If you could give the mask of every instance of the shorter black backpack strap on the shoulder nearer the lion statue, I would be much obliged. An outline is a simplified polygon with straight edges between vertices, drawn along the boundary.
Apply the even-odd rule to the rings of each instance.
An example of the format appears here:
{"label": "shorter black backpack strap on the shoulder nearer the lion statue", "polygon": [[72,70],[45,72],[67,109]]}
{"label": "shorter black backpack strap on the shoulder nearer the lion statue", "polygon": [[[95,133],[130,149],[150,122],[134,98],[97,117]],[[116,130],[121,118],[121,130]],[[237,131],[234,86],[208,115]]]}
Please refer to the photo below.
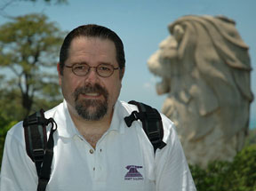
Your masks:
{"label": "shorter black backpack strap on the shoulder nearer the lion statue", "polygon": [[124,117],[124,121],[128,127],[132,125],[132,122],[140,119],[143,130],[148,136],[148,139],[156,149],[162,149],[166,144],[163,141],[164,128],[162,118],[156,108],[152,108],[144,103],[137,101],[129,101],[130,104],[136,105],[139,108],[139,112],[133,111],[131,115]]}

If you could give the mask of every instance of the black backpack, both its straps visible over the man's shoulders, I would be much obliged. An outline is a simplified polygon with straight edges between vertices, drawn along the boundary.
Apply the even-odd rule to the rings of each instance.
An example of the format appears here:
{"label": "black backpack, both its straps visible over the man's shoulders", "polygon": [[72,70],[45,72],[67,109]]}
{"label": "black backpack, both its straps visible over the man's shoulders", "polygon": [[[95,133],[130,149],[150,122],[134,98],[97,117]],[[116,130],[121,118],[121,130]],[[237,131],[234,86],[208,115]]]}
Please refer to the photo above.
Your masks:
{"label": "black backpack, both its straps visible over the man's shoulders", "polygon": [[[140,120],[143,130],[154,147],[154,153],[156,153],[157,148],[162,149],[166,145],[163,141],[164,128],[161,115],[156,108],[146,104],[134,100],[129,101],[129,103],[136,105],[139,112],[133,111],[131,115],[125,116],[124,121],[126,125],[131,127],[132,122]],[[47,139],[46,126],[48,124],[51,124],[51,131]],[[44,117],[44,110],[41,109],[25,118],[23,127],[27,154],[36,164],[38,176],[37,191],[44,191],[52,171],[53,132],[57,130],[57,123],[52,118],[46,119]]]}

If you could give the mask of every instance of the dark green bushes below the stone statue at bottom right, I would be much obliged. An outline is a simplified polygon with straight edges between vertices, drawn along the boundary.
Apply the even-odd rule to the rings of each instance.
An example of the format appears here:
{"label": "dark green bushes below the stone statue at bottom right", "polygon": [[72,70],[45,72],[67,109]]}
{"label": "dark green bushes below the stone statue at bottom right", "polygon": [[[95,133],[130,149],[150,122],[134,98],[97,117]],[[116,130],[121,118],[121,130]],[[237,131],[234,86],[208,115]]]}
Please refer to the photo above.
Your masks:
{"label": "dark green bushes below the stone statue at bottom right", "polygon": [[256,191],[256,144],[244,147],[233,162],[215,161],[206,169],[190,165],[197,191]]}

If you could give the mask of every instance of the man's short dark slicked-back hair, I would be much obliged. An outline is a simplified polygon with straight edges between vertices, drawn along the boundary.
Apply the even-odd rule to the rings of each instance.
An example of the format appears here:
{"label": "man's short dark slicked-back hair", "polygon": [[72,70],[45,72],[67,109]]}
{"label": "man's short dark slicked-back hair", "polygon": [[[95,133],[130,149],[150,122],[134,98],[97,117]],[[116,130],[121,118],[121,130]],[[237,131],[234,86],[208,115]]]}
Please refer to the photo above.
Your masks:
{"label": "man's short dark slicked-back hair", "polygon": [[[65,61],[68,59],[68,50],[72,40],[76,37],[100,37],[101,39],[108,39],[112,41],[116,46],[116,61],[121,70],[125,67],[125,58],[124,58],[124,44],[119,36],[109,28],[105,28],[99,25],[82,25],[78,28],[73,29],[65,37],[63,44],[60,48],[60,74],[63,75],[63,68]],[[122,72],[121,72],[122,73]]]}

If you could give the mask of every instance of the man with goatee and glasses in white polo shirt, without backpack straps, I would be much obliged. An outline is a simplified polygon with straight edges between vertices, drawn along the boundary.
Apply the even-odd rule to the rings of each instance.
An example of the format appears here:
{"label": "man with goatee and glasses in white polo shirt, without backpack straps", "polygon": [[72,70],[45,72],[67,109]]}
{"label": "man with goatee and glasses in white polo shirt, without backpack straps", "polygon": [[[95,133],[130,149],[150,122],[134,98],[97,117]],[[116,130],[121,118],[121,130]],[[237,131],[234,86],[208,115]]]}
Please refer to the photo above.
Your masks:
{"label": "man with goatee and glasses in white polo shirt, without backpack straps", "polygon": [[[57,67],[64,101],[45,113],[58,124],[47,190],[196,190],[169,119],[162,115],[167,145],[156,154],[140,122],[124,123],[137,110],[117,100],[124,63],[123,43],[108,28],[85,25],[65,38]],[[7,134],[0,187],[36,190],[22,123]]]}

